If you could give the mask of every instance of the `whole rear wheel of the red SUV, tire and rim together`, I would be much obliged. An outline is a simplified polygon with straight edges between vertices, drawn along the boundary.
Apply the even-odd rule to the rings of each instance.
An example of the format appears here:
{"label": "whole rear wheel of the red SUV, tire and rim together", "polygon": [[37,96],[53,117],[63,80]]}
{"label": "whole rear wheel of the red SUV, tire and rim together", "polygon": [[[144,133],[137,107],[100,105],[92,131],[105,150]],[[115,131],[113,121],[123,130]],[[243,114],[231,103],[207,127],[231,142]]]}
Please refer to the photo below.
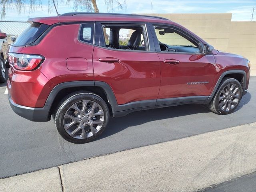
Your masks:
{"label": "whole rear wheel of the red SUV, tire and rim together", "polygon": [[81,144],[94,140],[106,128],[109,110],[98,95],[77,93],[67,98],[55,115],[55,126],[69,142]]}

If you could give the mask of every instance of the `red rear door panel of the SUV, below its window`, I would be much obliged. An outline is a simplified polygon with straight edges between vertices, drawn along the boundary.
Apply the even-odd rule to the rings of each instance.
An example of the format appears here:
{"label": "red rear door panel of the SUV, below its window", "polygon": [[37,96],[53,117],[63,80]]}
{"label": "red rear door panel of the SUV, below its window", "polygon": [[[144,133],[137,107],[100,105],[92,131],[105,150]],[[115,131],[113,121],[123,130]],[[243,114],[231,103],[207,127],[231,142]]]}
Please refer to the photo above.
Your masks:
{"label": "red rear door panel of the SUV, below its window", "polygon": [[[100,62],[112,57],[119,62]],[[118,104],[156,99],[160,88],[160,61],[154,52],[116,51],[95,46],[94,80],[108,83]]]}

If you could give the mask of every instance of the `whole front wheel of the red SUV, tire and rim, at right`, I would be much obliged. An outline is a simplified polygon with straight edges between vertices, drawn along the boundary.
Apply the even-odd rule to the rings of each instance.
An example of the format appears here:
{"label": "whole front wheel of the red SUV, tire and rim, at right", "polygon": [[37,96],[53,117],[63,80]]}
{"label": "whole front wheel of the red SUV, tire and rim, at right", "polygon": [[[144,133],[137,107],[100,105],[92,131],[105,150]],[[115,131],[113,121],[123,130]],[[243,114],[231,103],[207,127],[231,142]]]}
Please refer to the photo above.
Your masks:
{"label": "whole front wheel of the red SUV, tire and rim, at right", "polygon": [[216,114],[230,114],[237,108],[241,98],[240,82],[234,78],[224,78],[208,106]]}

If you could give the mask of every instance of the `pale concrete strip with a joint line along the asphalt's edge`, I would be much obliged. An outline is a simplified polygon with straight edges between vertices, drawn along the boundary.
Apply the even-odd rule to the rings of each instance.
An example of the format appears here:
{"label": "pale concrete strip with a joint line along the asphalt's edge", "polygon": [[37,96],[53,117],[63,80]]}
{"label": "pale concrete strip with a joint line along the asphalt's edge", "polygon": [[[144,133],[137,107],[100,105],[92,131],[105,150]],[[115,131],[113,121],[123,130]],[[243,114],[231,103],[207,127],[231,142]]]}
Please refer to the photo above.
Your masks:
{"label": "pale concrete strip with a joint line along the asphalt's edge", "polygon": [[255,138],[256,123],[236,126],[1,179],[0,190],[195,191],[254,172]]}

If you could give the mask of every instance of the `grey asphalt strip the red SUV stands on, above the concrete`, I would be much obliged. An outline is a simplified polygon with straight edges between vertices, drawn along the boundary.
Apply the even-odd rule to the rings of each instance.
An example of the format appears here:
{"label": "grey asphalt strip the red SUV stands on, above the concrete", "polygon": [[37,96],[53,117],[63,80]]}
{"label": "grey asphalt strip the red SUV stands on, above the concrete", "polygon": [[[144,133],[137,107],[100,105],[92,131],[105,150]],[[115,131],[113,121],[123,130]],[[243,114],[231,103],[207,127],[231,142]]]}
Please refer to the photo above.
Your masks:
{"label": "grey asphalt strip the red SUV stands on, above the concrete", "polygon": [[10,108],[0,84],[0,178],[75,162],[92,156],[176,140],[256,122],[256,77],[236,112],[220,116],[190,104],[134,112],[113,118],[97,140],[72,144],[62,139],[54,122],[30,122]]}

